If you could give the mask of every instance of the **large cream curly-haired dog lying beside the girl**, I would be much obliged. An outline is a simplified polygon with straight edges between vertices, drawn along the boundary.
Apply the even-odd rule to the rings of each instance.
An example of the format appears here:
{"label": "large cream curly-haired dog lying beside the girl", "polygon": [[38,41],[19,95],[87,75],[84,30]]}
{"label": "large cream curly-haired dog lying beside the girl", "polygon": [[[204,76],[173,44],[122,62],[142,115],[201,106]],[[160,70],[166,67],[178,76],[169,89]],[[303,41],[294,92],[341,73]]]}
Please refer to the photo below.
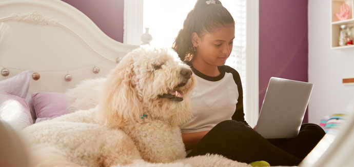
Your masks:
{"label": "large cream curly-haired dog lying beside the girl", "polygon": [[101,81],[97,107],[23,130],[35,166],[248,166],[219,155],[185,159],[178,126],[191,117],[194,78],[172,50],[133,50]]}

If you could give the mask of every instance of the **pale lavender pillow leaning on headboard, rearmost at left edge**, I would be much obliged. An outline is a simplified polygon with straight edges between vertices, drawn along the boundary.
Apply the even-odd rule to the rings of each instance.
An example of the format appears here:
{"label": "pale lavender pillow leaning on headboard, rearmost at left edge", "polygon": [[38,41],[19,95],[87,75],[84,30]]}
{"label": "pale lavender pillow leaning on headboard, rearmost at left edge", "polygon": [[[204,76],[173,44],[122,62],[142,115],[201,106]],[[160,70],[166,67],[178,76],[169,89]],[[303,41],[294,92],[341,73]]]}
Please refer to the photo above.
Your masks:
{"label": "pale lavender pillow leaning on headboard, rearmost at left edge", "polygon": [[12,94],[28,100],[29,83],[32,71],[23,71],[11,78],[0,81],[0,92]]}

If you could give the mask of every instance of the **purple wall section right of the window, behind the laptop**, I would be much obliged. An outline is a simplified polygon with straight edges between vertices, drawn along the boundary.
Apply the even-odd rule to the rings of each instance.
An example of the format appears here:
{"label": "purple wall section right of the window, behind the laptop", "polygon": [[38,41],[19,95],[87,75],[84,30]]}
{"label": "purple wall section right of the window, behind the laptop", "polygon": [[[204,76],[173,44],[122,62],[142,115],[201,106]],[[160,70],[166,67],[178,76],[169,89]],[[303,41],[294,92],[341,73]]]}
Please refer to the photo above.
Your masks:
{"label": "purple wall section right of the window, behind the laptop", "polygon": [[[260,0],[259,107],[270,77],[308,81],[307,0]],[[304,122],[307,122],[307,113]]]}

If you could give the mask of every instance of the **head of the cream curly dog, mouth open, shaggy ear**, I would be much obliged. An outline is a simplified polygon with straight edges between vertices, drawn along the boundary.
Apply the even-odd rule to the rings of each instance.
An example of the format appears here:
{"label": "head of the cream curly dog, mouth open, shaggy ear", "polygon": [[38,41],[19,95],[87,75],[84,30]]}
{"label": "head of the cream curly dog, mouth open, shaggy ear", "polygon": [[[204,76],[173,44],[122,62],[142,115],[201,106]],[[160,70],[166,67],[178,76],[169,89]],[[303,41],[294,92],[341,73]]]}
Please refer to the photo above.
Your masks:
{"label": "head of the cream curly dog, mouth open, shaggy ear", "polygon": [[107,77],[100,100],[103,119],[110,126],[151,120],[178,126],[191,117],[193,87],[190,67],[173,50],[135,49]]}

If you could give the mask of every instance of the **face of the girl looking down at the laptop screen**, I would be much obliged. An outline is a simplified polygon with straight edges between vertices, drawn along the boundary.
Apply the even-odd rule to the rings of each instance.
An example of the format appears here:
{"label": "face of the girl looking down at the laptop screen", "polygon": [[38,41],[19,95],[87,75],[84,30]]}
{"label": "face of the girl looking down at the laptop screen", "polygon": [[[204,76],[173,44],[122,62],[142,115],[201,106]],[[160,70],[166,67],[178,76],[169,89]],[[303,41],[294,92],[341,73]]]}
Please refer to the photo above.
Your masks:
{"label": "face of the girl looking down at the laptop screen", "polygon": [[196,33],[193,34],[192,42],[196,47],[193,62],[204,62],[209,66],[225,65],[226,59],[231,54],[232,42],[235,37],[233,24],[215,28],[211,33],[205,32],[201,38]]}

